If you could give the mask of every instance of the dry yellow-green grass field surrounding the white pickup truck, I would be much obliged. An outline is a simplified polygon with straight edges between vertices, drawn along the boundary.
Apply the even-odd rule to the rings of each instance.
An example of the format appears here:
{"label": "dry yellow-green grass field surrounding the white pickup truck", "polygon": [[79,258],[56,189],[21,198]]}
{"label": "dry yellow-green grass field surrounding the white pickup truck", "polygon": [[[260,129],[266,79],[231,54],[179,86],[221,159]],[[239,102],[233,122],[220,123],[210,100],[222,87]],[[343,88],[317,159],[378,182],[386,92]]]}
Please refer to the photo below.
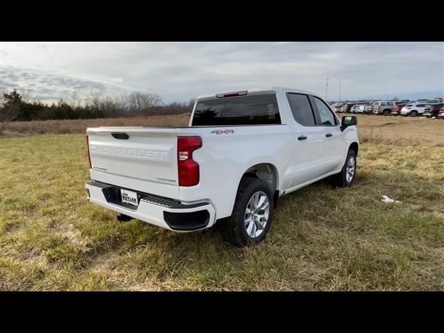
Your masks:
{"label": "dry yellow-green grass field surrounding the white pickup truck", "polygon": [[12,123],[0,138],[0,290],[444,291],[444,121],[360,116],[355,184],[284,196],[257,247],[119,223],[87,203],[87,126],[187,121]]}

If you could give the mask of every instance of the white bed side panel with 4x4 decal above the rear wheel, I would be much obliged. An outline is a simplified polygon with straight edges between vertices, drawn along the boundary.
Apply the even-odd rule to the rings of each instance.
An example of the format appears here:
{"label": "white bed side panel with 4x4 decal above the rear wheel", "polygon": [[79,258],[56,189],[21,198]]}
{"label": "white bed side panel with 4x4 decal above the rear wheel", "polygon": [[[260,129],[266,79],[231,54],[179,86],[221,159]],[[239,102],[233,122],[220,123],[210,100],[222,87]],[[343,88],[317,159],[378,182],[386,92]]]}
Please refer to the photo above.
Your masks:
{"label": "white bed side panel with 4x4 decal above the rear wheel", "polygon": [[[215,130],[233,130],[216,134]],[[194,187],[180,187],[180,200],[207,200],[216,207],[216,219],[232,214],[237,187],[244,173],[256,164],[272,164],[277,189],[288,188],[293,180],[294,161],[289,151],[293,133],[287,125],[177,128],[178,136],[202,137],[202,148],[194,151],[200,164],[200,181]]]}

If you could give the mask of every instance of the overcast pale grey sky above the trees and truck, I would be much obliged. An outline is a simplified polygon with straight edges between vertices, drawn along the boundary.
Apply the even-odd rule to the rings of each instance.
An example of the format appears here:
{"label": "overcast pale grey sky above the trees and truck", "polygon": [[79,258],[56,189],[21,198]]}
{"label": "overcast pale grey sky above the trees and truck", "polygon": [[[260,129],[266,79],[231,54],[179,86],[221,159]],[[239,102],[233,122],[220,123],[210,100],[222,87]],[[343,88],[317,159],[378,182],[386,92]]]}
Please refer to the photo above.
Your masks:
{"label": "overcast pale grey sky above the trees and truck", "polygon": [[[443,42],[0,42],[0,84],[42,100],[92,90],[154,92],[187,101],[256,87],[310,90],[328,100],[444,94]],[[432,96],[424,96],[432,97]]]}

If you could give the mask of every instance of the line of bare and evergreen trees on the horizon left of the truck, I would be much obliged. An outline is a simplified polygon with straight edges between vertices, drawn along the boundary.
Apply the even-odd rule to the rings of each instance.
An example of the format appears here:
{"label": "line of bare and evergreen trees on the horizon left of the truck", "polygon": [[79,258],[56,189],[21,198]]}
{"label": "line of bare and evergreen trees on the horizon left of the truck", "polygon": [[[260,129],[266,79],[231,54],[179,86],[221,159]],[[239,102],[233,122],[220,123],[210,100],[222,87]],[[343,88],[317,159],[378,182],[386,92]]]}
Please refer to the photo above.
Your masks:
{"label": "line of bare and evergreen trees on the horizon left of the truck", "polygon": [[19,94],[16,89],[0,92],[0,133],[10,121],[50,119],[95,119],[182,114],[191,112],[195,100],[162,103],[157,94],[131,92],[121,96],[105,96],[91,92],[80,99],[76,93],[69,99],[44,103],[31,99],[29,94]]}

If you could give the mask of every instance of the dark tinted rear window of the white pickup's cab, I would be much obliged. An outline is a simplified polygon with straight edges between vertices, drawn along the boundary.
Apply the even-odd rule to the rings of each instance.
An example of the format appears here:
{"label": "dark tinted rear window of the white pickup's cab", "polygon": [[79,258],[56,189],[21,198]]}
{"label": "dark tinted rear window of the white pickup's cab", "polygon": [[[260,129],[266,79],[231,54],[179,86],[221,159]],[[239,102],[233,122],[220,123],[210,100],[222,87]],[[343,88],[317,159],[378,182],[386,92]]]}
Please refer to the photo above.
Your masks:
{"label": "dark tinted rear window of the white pickup's cab", "polygon": [[191,126],[281,123],[275,94],[198,101]]}

